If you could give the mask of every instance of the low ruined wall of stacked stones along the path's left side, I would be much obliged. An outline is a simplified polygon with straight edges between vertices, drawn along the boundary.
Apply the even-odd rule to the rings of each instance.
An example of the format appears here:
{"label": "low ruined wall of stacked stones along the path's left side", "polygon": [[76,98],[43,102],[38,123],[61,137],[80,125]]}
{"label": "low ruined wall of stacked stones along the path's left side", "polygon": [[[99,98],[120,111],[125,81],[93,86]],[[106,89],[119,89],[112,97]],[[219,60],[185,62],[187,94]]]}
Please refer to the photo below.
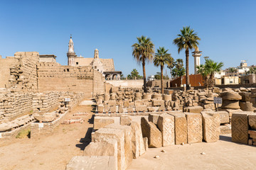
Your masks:
{"label": "low ruined wall of stacked stones along the path's left side", "polygon": [[0,92],[0,123],[8,122],[32,113],[47,112],[58,107],[64,98],[70,98],[70,103],[83,97],[81,92],[46,91],[43,93],[31,92]]}

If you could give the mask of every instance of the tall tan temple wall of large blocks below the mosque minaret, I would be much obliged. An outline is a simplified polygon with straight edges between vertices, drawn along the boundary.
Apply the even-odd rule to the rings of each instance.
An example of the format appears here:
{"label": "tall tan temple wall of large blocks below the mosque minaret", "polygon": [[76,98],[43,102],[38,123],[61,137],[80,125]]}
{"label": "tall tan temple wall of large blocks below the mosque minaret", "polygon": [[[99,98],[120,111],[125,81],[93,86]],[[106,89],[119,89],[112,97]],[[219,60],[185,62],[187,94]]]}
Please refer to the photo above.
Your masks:
{"label": "tall tan temple wall of large blocks below the mosque minaret", "polygon": [[86,97],[102,94],[105,79],[91,67],[38,63],[38,91],[82,91]]}

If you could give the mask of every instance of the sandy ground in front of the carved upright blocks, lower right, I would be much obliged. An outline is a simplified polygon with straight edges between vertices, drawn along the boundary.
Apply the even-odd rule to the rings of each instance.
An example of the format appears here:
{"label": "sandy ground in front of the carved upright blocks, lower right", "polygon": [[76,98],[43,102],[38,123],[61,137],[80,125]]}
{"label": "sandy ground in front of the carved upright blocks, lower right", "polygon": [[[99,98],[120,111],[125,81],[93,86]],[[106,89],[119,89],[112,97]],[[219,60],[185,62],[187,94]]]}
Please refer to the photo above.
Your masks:
{"label": "sandy ground in front of the carved upright blocks, lower right", "polygon": [[[156,155],[159,159],[154,158]],[[133,159],[129,166],[132,169],[256,169],[256,147],[236,144],[230,135],[223,135],[213,143],[149,149],[139,159]]]}

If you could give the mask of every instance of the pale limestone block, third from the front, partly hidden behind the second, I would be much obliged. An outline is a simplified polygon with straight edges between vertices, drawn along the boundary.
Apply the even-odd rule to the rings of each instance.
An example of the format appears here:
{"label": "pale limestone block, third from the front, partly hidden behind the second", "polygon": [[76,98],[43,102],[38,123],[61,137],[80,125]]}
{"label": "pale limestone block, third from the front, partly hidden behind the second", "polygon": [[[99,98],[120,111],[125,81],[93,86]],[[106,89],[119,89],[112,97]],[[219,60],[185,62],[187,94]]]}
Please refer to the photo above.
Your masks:
{"label": "pale limestone block, third from the front, partly hidden behind the second", "polygon": [[117,140],[117,169],[125,169],[124,130],[100,128],[95,132],[95,142]]}

